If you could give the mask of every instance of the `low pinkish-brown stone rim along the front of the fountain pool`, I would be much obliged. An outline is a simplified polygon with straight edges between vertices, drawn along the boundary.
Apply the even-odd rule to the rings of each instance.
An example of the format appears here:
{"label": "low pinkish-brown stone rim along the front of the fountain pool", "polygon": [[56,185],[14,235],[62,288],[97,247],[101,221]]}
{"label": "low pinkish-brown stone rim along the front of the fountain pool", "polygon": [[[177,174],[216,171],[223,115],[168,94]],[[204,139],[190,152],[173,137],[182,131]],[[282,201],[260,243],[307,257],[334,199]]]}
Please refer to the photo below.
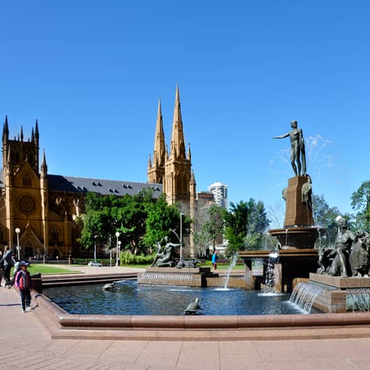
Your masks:
{"label": "low pinkish-brown stone rim along the front of the fountain pool", "polygon": [[34,292],[52,339],[241,341],[370,337],[370,313],[244,316],[80,315]]}

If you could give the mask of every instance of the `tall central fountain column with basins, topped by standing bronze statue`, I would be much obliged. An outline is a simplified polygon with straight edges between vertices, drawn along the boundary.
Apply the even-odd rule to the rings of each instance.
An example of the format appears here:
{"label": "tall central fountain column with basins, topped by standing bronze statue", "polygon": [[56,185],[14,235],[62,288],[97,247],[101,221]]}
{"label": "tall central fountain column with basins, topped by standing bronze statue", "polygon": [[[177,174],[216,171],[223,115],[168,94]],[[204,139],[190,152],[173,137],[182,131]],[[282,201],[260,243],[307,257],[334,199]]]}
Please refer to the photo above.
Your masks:
{"label": "tall central fountain column with basins, topped by standing bronze statue", "polygon": [[[268,230],[269,235],[276,237],[281,245],[279,263],[274,267],[279,273],[278,281],[275,276],[275,290],[279,292],[292,292],[297,278],[308,279],[310,272],[316,271],[318,266],[316,240],[325,234],[325,228],[318,227],[313,222],[312,181],[306,173],[303,133],[297,128],[297,121],[292,121],[292,131],[275,138],[287,137],[290,137],[290,158],[295,177],[288,179],[288,186],[282,192],[286,201],[283,228]],[[246,264],[246,281],[249,287],[260,288],[262,281],[253,276],[251,261],[254,258],[267,260],[269,251],[241,251],[239,256],[244,258]],[[268,263],[265,262],[265,276],[268,271]]]}

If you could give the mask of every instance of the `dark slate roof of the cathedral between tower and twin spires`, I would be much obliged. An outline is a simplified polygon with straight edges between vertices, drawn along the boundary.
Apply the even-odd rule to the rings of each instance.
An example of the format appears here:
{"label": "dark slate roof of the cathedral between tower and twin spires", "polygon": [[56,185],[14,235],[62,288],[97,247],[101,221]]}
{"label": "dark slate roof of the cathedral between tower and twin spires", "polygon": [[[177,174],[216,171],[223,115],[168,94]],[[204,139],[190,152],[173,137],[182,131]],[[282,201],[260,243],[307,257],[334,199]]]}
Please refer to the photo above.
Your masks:
{"label": "dark slate roof of the cathedral between tower and twin spires", "polygon": [[102,195],[135,195],[143,188],[152,188],[154,198],[162,193],[162,184],[148,184],[147,182],[128,182],[117,180],[87,179],[61,175],[47,175],[49,188],[52,191],[68,191],[87,193],[94,191]]}

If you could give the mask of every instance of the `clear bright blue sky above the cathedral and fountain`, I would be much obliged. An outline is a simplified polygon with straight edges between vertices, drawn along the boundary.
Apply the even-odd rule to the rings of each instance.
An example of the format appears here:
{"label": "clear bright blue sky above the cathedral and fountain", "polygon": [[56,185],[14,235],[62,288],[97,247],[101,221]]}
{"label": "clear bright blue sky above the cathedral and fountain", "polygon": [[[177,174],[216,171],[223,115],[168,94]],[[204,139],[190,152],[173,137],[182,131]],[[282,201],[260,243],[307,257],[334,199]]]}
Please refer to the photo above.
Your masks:
{"label": "clear bright blue sky above the cathedral and fountain", "polygon": [[3,1],[0,118],[38,119],[50,174],[147,181],[158,96],[179,84],[197,190],[267,209],[293,177],[297,119],[313,193],[351,212],[370,173],[370,1]]}

